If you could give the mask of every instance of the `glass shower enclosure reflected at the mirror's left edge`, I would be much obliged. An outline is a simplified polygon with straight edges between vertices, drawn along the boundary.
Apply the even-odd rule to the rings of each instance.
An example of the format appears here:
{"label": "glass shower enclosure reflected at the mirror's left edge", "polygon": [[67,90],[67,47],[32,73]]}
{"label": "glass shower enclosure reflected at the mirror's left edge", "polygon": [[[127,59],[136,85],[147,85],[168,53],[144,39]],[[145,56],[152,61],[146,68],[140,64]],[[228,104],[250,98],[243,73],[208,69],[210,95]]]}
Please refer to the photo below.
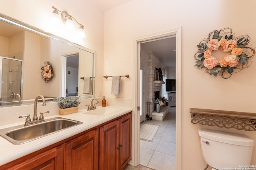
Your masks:
{"label": "glass shower enclosure reflected at the mirror's left edge", "polygon": [[20,105],[19,99],[14,101],[15,94],[21,94],[22,60],[0,57],[0,107]]}

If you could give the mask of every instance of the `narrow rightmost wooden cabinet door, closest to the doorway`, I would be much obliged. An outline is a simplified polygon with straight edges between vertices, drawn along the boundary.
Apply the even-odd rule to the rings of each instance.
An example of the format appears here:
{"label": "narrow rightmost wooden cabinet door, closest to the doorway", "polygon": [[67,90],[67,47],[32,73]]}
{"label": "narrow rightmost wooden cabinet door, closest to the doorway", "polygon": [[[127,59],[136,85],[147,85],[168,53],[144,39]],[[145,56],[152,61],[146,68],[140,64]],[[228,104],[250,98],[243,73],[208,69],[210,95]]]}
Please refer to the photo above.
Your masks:
{"label": "narrow rightmost wooden cabinet door, closest to the doorway", "polygon": [[119,162],[120,169],[124,169],[131,159],[131,114],[119,120]]}

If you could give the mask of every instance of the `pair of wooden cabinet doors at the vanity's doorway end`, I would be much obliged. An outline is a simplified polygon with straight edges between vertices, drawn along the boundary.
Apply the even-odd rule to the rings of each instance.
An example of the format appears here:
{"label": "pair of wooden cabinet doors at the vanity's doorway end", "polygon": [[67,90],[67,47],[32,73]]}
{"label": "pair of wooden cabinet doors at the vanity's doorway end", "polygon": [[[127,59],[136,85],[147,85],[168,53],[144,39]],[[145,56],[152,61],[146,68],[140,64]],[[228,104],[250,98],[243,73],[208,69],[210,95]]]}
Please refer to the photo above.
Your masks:
{"label": "pair of wooden cabinet doors at the vanity's doorway end", "polygon": [[131,115],[100,127],[100,170],[123,169],[131,159]]}

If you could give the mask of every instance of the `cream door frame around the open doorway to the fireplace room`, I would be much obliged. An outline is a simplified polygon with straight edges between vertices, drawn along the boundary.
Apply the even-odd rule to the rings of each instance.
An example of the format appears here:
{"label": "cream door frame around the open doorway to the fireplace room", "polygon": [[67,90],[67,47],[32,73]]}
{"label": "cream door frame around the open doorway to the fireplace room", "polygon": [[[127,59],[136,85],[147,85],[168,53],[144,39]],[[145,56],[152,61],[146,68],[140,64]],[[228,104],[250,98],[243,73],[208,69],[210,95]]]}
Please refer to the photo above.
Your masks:
{"label": "cream door frame around the open doorway to the fireplace room", "polygon": [[176,36],[176,169],[182,169],[182,68],[181,68],[181,27],[158,32],[147,36],[142,36],[134,40],[134,60],[133,67],[134,81],[133,81],[133,113],[132,113],[132,166],[140,164],[140,42],[147,40],[154,40],[156,38],[163,38],[167,36]]}

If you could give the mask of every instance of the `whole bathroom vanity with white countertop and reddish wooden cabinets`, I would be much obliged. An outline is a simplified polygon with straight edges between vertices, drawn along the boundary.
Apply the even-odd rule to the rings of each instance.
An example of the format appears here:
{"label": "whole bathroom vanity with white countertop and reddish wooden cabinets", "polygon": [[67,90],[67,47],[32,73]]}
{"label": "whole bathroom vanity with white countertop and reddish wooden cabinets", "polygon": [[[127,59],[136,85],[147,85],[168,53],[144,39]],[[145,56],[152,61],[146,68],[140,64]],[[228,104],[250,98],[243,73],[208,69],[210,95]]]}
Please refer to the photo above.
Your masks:
{"label": "whole bathroom vanity with white countertop and reddish wooden cabinets", "polygon": [[0,169],[124,169],[131,159],[132,109],[108,108],[61,115],[83,123],[25,144],[1,137]]}

